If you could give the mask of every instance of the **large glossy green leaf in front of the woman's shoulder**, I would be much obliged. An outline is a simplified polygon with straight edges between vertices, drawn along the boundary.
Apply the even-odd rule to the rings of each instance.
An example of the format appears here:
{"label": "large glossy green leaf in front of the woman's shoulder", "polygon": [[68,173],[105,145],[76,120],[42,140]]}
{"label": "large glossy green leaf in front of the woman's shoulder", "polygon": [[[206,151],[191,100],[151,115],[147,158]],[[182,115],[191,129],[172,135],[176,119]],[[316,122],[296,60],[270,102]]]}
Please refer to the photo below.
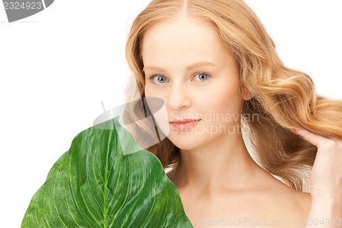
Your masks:
{"label": "large glossy green leaf in front of the woman's shoulder", "polygon": [[[139,151],[124,155],[122,144]],[[74,138],[31,199],[21,227],[192,225],[157,157],[113,118]]]}

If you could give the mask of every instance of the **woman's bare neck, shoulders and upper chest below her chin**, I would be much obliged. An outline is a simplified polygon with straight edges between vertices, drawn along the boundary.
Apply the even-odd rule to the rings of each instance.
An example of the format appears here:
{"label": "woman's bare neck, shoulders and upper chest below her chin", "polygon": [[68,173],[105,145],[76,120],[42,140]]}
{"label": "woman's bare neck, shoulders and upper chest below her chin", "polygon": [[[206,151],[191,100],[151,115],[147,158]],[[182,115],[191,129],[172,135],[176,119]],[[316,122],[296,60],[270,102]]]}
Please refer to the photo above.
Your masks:
{"label": "woman's bare neck, shoulders and upper chest below her chin", "polygon": [[[240,227],[260,227],[252,220],[269,227],[275,227],[274,222],[276,227],[305,227],[310,194],[297,192],[274,178],[252,160],[243,142],[241,150],[237,145],[226,162],[225,156],[211,159],[212,151],[218,149],[215,146],[200,156],[196,156],[199,151],[181,151],[179,168],[168,173],[194,227],[227,227],[230,220],[239,221]],[[220,220],[221,226],[210,225],[213,220]]]}

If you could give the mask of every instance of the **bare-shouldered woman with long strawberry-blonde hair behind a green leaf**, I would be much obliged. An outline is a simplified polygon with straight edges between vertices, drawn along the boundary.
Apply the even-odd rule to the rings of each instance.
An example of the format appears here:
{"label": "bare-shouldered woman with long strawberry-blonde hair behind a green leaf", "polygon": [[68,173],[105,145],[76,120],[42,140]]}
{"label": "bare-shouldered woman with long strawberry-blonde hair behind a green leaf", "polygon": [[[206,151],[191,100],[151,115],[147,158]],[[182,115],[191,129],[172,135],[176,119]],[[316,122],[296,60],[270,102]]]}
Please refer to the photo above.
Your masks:
{"label": "bare-shouldered woman with long strawberry-blonde hair behind a green leaf", "polygon": [[151,1],[126,50],[139,95],[165,102],[148,150],[194,227],[341,227],[342,102],[282,64],[243,1]]}

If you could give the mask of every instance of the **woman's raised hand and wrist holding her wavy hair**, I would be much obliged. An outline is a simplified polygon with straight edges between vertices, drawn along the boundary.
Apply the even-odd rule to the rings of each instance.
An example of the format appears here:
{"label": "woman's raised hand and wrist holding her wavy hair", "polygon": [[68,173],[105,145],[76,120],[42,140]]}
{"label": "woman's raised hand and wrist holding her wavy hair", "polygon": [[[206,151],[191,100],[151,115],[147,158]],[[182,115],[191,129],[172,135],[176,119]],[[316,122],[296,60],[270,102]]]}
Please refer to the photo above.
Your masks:
{"label": "woman's raised hand and wrist holding her wavy hair", "polygon": [[319,227],[342,227],[342,140],[319,136],[306,129],[295,131],[317,147],[310,177],[312,204],[308,218],[330,222]]}

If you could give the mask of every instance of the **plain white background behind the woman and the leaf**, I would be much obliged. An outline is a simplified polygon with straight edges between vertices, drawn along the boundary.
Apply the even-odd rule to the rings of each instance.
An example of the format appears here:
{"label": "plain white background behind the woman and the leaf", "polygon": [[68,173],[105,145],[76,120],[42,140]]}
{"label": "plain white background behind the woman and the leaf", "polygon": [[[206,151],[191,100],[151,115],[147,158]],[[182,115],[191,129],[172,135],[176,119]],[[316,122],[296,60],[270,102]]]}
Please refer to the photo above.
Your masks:
{"label": "plain white background behind the woman and the leaf", "polygon": [[[0,8],[0,227],[20,227],[31,197],[73,138],[123,103],[124,42],[148,0],[56,0],[8,23]],[[291,68],[342,99],[339,0],[248,0]]]}

